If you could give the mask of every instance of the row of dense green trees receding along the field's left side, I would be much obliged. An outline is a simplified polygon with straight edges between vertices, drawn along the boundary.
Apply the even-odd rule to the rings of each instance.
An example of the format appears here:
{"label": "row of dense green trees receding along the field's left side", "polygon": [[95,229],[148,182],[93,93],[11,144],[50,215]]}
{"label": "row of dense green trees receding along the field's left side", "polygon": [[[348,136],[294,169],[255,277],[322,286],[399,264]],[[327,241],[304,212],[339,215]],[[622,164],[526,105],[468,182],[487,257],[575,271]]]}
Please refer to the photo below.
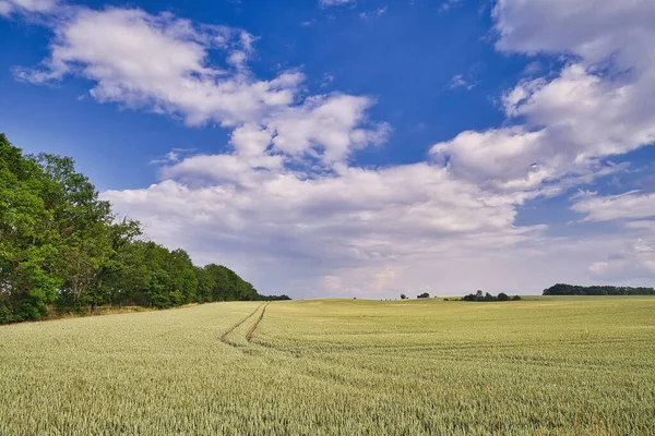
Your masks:
{"label": "row of dense green trees receding along the field's left side", "polygon": [[141,241],[71,158],[23,155],[0,134],[0,324],[99,305],[171,307],[263,296],[231,269]]}

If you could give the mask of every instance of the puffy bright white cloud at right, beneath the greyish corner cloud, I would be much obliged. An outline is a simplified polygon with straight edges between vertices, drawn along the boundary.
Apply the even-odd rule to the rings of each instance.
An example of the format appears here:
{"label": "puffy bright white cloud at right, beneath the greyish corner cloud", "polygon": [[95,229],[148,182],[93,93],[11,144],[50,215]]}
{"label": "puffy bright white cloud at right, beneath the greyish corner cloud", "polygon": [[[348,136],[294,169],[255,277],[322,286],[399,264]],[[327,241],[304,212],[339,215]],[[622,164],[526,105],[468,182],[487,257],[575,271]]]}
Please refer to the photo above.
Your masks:
{"label": "puffy bright white cloud at right, beneath the greyish corner cloud", "polygon": [[523,123],[463,132],[431,154],[478,182],[536,186],[586,173],[599,159],[655,142],[655,111],[642,99],[651,89],[617,85],[572,64],[551,82],[538,78],[508,93],[505,112]]}

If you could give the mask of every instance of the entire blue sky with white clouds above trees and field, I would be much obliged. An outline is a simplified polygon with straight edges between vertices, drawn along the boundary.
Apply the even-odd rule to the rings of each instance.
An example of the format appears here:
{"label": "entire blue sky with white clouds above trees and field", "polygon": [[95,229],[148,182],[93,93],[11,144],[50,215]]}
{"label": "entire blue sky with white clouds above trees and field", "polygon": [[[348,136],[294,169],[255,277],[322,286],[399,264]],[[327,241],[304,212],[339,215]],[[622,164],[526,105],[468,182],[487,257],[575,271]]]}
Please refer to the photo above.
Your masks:
{"label": "entire blue sky with white clouds above trees and field", "polygon": [[0,0],[0,131],[264,293],[655,281],[653,0]]}

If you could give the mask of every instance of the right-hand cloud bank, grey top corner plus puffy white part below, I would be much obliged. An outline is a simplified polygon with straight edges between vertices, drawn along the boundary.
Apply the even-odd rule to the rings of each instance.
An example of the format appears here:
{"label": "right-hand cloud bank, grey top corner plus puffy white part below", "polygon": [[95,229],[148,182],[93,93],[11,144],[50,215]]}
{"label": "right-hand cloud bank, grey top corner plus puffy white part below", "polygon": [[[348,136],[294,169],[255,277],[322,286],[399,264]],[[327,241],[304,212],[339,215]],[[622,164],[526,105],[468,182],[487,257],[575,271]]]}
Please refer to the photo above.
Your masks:
{"label": "right-hand cloud bank, grey top corner plus puffy white part below", "polygon": [[523,81],[505,95],[513,126],[463,132],[431,154],[467,180],[536,187],[653,144],[655,27],[645,17],[654,14],[651,1],[500,0],[499,49],[571,61],[556,78]]}

